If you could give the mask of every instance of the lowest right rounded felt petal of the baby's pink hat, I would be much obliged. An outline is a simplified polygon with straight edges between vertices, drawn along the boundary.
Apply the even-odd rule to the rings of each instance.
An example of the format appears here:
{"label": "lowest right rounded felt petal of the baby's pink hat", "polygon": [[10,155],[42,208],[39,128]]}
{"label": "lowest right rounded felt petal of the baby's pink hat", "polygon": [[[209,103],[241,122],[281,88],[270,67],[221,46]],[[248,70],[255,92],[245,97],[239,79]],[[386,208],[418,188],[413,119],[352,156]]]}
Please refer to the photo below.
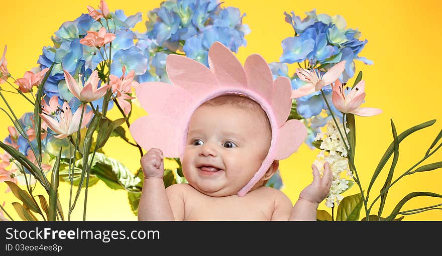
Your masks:
{"label": "lowest right rounded felt petal of the baby's pink hat", "polygon": [[296,119],[288,120],[278,131],[275,160],[288,158],[304,142],[305,137],[307,137],[305,125]]}

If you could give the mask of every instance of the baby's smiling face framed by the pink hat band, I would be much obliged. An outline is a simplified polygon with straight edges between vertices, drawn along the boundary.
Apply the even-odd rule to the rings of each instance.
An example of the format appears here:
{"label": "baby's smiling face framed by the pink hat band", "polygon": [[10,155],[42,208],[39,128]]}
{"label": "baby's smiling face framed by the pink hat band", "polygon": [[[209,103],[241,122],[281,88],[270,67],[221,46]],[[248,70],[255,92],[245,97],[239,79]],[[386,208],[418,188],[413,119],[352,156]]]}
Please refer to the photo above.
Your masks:
{"label": "baby's smiling face framed by the pink hat band", "polygon": [[[268,126],[252,110],[234,105],[200,106],[189,122],[182,161],[189,184],[209,196],[237,194],[267,156]],[[258,182],[252,189],[261,185]]]}

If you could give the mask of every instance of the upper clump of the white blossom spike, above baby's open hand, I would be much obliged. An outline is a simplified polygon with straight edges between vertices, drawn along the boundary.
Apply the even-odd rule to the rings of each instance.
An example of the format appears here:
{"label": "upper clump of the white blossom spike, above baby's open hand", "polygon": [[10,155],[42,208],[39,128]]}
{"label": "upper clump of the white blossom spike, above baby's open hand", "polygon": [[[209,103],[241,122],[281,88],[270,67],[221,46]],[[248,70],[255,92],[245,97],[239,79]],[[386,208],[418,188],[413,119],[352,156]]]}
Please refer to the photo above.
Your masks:
{"label": "upper clump of the white blossom spike, above baby's open hand", "polygon": [[[339,129],[341,132],[344,132],[344,126],[339,123]],[[322,140],[321,146],[319,147],[321,150],[329,150],[330,155],[335,155],[336,152],[341,152],[342,157],[347,157],[347,150],[345,149],[344,143],[341,140],[341,135],[339,134],[338,129],[336,128],[335,122],[333,119],[327,121],[325,133],[318,133],[316,135],[315,140]],[[350,129],[346,129],[346,134],[350,132]],[[347,143],[346,135],[343,134],[344,140]],[[348,143],[347,143],[348,145]]]}

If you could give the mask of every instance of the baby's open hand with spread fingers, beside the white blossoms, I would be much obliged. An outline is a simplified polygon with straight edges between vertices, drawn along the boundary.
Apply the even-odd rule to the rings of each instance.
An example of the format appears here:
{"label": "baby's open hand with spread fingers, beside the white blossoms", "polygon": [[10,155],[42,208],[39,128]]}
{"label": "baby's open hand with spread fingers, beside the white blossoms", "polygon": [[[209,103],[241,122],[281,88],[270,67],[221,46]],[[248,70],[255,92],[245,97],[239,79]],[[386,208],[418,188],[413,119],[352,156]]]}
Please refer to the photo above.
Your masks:
{"label": "baby's open hand with spread fingers, beside the white blossoms", "polygon": [[311,169],[313,169],[313,182],[301,191],[299,198],[313,203],[320,203],[327,197],[332,185],[332,171],[328,162],[324,164],[324,174],[322,177],[315,165],[312,165]]}

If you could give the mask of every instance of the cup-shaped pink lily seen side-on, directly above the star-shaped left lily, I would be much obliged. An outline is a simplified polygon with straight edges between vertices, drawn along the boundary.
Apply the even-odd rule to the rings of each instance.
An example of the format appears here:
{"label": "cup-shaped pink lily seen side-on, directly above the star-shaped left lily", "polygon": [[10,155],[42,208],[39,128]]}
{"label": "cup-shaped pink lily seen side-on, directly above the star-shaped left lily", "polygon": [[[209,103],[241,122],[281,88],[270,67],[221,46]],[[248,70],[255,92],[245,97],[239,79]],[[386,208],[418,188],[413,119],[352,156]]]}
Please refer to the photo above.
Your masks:
{"label": "cup-shaped pink lily seen side-on, directly above the star-shaped left lily", "polygon": [[84,86],[81,84],[81,82],[77,83],[77,81],[75,81],[71,74],[69,74],[69,72],[66,70],[64,70],[64,78],[66,79],[69,91],[82,102],[90,102],[101,98],[104,94],[106,94],[107,88],[109,88],[108,84],[98,88],[99,78],[98,71],[96,70],[92,72]]}

